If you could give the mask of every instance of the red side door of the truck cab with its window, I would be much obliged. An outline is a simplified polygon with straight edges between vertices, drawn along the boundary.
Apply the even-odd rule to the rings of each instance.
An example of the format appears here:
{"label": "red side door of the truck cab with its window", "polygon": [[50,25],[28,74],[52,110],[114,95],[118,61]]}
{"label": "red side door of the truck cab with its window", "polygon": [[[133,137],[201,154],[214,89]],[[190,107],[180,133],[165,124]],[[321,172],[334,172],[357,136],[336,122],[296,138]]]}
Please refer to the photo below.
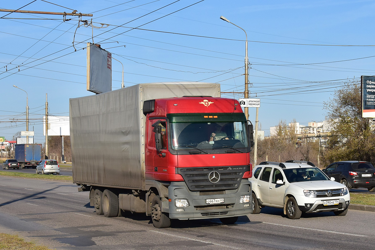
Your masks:
{"label": "red side door of the truck cab with its window", "polygon": [[[150,135],[147,139],[150,140],[147,143],[146,150],[146,166],[148,172],[154,174],[167,174],[168,162],[167,162],[167,150],[168,150],[168,138],[166,129],[166,120],[157,119],[149,120],[148,132]],[[159,179],[159,178],[157,178]]]}

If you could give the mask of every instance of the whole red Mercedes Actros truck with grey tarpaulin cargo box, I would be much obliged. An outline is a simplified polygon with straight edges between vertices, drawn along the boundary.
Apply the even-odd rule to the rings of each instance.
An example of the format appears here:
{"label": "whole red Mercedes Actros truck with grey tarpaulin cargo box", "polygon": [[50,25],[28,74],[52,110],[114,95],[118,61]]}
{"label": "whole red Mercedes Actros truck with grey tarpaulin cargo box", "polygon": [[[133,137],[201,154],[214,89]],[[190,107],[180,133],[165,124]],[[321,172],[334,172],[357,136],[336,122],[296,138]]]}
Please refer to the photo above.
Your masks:
{"label": "whole red Mercedes Actros truck with grey tarpaulin cargo box", "polygon": [[253,127],[220,85],[137,84],[70,99],[73,180],[97,214],[231,224],[252,213]]}

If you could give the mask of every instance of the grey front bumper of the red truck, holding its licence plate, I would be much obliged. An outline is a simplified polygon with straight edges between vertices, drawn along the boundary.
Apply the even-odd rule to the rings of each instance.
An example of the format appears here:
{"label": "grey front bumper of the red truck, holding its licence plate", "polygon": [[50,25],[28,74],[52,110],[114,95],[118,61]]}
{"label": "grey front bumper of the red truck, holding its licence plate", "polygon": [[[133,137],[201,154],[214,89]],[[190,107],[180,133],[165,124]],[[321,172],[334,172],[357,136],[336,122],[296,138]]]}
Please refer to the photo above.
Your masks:
{"label": "grey front bumper of the red truck, holding its licence plate", "polygon": [[[249,201],[240,203],[245,195],[248,195]],[[168,187],[168,198],[170,219],[213,219],[253,212],[251,182],[247,179],[241,180],[238,189],[210,192],[190,191],[185,182],[172,182]],[[176,200],[184,207],[176,207]]]}

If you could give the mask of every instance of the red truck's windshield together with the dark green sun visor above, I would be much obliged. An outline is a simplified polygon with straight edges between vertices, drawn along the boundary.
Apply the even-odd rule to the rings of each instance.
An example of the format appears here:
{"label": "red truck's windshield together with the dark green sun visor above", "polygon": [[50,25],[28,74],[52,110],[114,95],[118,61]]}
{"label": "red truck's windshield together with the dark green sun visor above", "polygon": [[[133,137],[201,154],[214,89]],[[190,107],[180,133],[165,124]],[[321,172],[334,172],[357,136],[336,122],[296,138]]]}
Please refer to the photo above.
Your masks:
{"label": "red truck's windshield together with the dark green sun visor above", "polygon": [[169,123],[174,150],[248,147],[247,122],[243,113],[169,114]]}

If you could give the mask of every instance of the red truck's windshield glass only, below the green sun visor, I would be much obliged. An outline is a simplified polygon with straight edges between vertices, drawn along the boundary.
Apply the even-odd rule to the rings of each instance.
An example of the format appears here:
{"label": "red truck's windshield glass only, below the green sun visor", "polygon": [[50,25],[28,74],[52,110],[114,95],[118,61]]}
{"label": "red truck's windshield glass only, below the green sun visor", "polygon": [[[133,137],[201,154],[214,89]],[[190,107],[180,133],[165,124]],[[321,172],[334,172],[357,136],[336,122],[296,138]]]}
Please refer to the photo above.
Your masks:
{"label": "red truck's windshield glass only, below the green sun visor", "polygon": [[245,121],[186,121],[170,126],[174,150],[248,147]]}

